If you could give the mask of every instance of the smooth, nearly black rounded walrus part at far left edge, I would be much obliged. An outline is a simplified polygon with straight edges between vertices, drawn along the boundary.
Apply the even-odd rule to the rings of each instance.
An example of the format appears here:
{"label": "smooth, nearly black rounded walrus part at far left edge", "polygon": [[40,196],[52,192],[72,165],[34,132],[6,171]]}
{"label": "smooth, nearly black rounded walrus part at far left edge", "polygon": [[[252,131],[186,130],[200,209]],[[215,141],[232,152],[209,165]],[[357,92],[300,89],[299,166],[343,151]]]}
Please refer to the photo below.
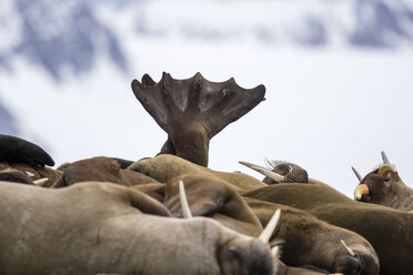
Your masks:
{"label": "smooth, nearly black rounded walrus part at far left edge", "polygon": [[53,166],[54,161],[40,146],[17,136],[0,134],[0,162]]}

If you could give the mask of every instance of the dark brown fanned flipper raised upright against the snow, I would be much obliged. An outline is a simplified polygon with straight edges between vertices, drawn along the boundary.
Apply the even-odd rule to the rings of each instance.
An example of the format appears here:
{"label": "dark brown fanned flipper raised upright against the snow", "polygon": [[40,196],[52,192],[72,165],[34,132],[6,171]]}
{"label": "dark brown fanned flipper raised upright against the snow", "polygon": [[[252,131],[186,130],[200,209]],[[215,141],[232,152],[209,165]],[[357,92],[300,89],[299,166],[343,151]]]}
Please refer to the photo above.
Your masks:
{"label": "dark brown fanned flipper raised upright against the snow", "polygon": [[175,80],[163,73],[160,82],[148,74],[132,90],[143,108],[168,133],[161,153],[208,166],[210,140],[264,100],[265,86],[243,89],[231,78],[211,82],[201,73]]}

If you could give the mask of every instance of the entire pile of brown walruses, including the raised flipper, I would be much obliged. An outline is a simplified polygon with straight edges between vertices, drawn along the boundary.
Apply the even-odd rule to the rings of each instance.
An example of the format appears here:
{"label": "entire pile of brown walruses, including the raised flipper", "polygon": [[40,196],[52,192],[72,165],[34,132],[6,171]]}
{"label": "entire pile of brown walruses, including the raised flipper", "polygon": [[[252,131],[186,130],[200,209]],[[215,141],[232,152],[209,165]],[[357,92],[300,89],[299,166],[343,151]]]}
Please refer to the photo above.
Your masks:
{"label": "entire pile of brown walruses, including the raised flipper", "polygon": [[[243,162],[263,181],[213,171],[210,140],[263,101],[265,88],[164,73],[158,83],[147,74],[133,80],[132,90],[168,133],[155,157],[98,156],[54,170],[41,147],[0,134],[0,274],[413,269],[413,215],[394,210],[412,210],[412,191],[389,161],[360,176],[357,201],[292,163],[268,170]],[[266,233],[276,210],[278,226]]]}

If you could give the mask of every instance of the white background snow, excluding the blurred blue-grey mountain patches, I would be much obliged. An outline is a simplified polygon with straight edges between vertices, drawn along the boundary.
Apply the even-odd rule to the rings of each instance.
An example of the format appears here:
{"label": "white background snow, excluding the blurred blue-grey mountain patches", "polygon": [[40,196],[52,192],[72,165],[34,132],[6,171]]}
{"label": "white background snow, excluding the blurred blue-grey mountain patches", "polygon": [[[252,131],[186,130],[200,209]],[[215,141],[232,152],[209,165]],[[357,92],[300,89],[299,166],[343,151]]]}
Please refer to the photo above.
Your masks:
{"label": "white background snow, excluding the blurred blue-grey mountain patches", "polygon": [[[296,44],[291,40],[296,38],[293,32],[283,42],[264,42],[254,39],[258,32],[245,29],[266,26],[264,30],[272,30],[271,13],[261,13],[282,4],[197,1],[203,8],[200,11],[191,1],[179,2],[187,10],[169,12],[173,7],[168,1],[139,2],[139,9],[128,4],[97,8],[97,18],[121,41],[127,71],[101,54],[90,72],[63,68],[63,79],[58,81],[23,57],[10,59],[12,70],[0,71],[0,101],[17,116],[21,136],[42,144],[58,164],[95,155],[153,156],[167,134],[134,98],[132,79],[149,73],[159,81],[163,71],[187,79],[201,72],[211,81],[234,77],[244,88],[266,86],[266,101],[211,141],[211,169],[261,179],[238,161],[291,161],[352,197],[356,179],[350,167],[366,174],[381,162],[384,150],[413,186],[413,48],[407,39],[396,48],[363,48],[349,45],[347,35],[328,31],[336,35],[325,35],[329,42],[321,45]],[[235,4],[241,8],[233,14]],[[291,9],[285,18],[293,13]],[[323,21],[324,16],[316,18]],[[352,24],[343,26],[339,29],[350,33]],[[240,37],[239,29],[243,29]],[[288,30],[285,23],[281,29]],[[312,38],[309,41],[315,41]]]}

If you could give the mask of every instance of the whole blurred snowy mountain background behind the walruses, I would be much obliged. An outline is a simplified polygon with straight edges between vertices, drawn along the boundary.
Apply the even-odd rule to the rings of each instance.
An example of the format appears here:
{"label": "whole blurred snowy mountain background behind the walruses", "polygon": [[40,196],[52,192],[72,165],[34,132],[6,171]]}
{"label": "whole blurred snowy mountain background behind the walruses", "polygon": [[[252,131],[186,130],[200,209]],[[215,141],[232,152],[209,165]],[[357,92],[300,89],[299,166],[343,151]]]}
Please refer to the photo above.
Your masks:
{"label": "whole blurred snowy mountain background behind the walruses", "polygon": [[162,72],[266,86],[210,167],[291,161],[345,195],[385,151],[413,186],[412,0],[1,0],[0,133],[57,165],[154,156],[167,134],[130,83]]}

